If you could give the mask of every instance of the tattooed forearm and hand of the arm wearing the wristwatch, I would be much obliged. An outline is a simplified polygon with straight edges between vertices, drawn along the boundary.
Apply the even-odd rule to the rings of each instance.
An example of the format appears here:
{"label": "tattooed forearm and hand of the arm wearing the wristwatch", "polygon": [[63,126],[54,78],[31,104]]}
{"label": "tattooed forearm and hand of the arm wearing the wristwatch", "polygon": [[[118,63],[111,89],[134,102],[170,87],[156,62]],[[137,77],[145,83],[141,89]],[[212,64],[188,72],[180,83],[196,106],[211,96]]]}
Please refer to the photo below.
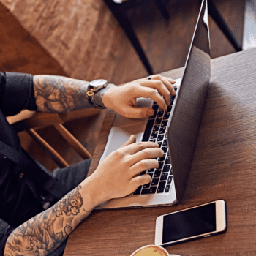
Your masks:
{"label": "tattooed forearm and hand of the arm wearing the wristwatch", "polygon": [[[122,116],[144,118],[154,115],[152,108],[137,108],[136,99],[151,98],[166,110],[170,105],[170,95],[175,95],[175,81],[161,75],[151,75],[124,86],[108,86],[99,90],[94,97],[97,105],[111,108]],[[35,75],[33,78],[34,96],[37,110],[45,112],[67,112],[91,108],[87,102],[88,82],[56,75]]]}

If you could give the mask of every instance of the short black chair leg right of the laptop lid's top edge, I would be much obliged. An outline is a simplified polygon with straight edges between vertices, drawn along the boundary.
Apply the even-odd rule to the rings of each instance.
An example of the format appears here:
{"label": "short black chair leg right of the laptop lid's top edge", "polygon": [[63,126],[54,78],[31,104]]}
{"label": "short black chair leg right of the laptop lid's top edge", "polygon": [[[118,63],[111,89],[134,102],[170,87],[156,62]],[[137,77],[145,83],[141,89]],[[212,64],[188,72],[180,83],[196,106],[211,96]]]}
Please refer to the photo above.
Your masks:
{"label": "short black chair leg right of the laptop lid's top edge", "polygon": [[[202,0],[199,1],[202,2]],[[225,20],[222,18],[222,15],[220,15],[217,7],[212,0],[208,0],[208,12],[209,15],[211,15],[211,18],[213,18],[215,23],[217,23],[217,25],[219,26],[219,29],[222,30],[223,34],[225,34],[227,39],[230,41],[230,44],[233,45],[233,48],[235,48],[236,51],[243,50],[241,45],[239,45],[235,35],[232,31],[230,31],[230,28],[227,26],[227,23],[225,23]]]}

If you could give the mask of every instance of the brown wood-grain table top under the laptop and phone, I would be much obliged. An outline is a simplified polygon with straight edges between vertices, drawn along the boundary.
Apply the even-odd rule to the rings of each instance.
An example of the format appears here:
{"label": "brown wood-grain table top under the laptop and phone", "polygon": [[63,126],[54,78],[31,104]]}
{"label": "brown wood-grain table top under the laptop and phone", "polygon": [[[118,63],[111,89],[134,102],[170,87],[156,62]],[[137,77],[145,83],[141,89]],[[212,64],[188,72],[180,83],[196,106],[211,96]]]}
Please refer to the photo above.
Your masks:
{"label": "brown wood-grain table top under the laptop and phone", "polygon": [[[166,72],[181,77],[182,69]],[[90,173],[104,150],[108,110]],[[154,244],[160,214],[223,199],[226,233],[167,247],[178,255],[256,255],[256,49],[211,61],[211,84],[184,198],[178,206],[93,211],[69,236],[64,256],[129,256]]]}

